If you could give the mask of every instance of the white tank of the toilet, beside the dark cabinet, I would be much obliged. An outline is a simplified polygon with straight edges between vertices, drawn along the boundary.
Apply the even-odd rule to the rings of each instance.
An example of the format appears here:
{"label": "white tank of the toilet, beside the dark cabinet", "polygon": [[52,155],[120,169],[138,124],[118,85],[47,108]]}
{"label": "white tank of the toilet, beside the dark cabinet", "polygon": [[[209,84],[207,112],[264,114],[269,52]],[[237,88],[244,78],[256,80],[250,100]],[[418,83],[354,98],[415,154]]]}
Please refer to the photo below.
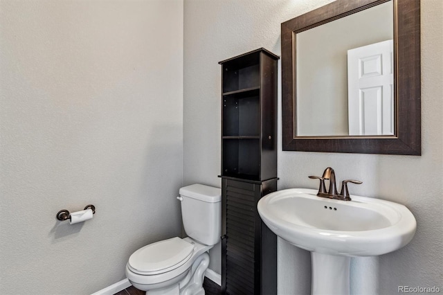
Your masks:
{"label": "white tank of the toilet, beside the dark cabinet", "polygon": [[180,188],[179,194],[186,234],[202,244],[217,244],[221,235],[221,189],[192,184]]}

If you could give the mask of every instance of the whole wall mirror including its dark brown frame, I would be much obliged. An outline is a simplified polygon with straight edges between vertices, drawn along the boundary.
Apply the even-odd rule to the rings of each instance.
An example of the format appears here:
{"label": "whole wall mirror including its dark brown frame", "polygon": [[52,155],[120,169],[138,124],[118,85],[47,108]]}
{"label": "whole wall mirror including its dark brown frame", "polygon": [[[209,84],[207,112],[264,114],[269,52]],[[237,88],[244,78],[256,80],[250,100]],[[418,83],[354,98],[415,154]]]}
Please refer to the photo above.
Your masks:
{"label": "whole wall mirror including its dark brown frame", "polygon": [[284,22],[283,150],[420,154],[419,35],[419,1],[337,0]]}

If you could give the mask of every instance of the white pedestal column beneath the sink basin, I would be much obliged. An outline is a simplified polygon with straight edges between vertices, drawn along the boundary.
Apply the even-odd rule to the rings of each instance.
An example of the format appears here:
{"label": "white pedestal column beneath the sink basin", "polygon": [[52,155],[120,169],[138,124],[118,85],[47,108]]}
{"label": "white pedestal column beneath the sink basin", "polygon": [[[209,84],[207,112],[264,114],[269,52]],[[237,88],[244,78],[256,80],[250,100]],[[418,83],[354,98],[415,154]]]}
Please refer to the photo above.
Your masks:
{"label": "white pedestal column beneath the sink basin", "polygon": [[311,294],[349,295],[350,262],[350,257],[311,252]]}

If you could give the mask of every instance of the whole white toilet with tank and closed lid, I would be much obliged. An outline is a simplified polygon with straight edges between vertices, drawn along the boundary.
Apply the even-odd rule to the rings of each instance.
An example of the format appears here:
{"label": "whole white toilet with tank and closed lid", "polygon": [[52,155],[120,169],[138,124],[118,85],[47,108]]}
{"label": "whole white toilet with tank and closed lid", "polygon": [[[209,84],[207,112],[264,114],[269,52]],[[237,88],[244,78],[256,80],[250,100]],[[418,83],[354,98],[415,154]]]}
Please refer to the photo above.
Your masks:
{"label": "whole white toilet with tank and closed lid", "polygon": [[192,184],[179,190],[181,217],[188,238],[171,238],[135,251],[126,276],[147,295],[204,295],[208,250],[220,240],[221,190]]}

